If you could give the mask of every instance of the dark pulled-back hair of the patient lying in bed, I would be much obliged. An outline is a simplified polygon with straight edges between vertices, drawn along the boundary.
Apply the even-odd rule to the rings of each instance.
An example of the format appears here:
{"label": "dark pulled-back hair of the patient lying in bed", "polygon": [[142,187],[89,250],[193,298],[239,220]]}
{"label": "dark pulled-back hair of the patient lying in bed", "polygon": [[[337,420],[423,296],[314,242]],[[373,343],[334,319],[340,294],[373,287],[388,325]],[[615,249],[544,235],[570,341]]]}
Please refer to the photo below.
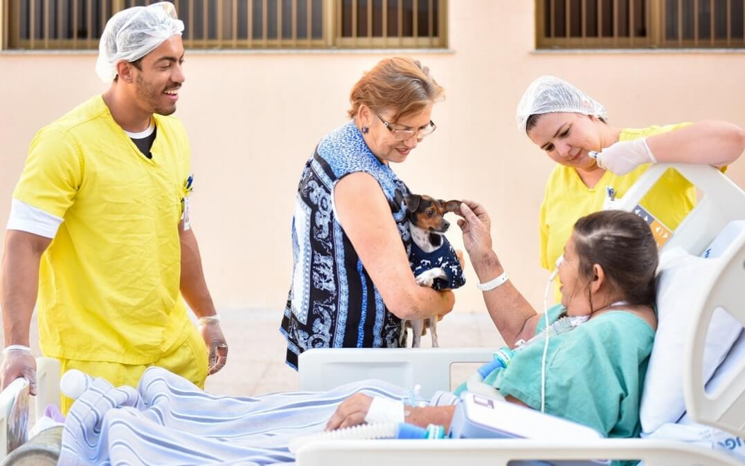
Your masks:
{"label": "dark pulled-back hair of the patient lying in bed", "polygon": [[654,305],[657,244],[641,217],[616,210],[582,217],[574,223],[574,249],[580,258],[580,277],[588,283],[594,276],[592,266],[598,264],[621,299],[632,306]]}

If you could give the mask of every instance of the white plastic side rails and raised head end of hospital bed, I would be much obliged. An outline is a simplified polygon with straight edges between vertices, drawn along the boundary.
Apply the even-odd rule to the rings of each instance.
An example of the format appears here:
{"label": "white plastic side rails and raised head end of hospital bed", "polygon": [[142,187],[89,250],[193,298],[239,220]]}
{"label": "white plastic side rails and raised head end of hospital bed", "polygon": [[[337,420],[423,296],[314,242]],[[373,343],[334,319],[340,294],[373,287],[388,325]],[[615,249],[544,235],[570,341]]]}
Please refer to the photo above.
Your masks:
{"label": "white plastic side rails and raised head end of hospital bed", "polygon": [[[668,168],[679,171],[702,193],[685,220],[663,249],[681,246],[700,255],[732,220],[745,219],[745,192],[713,167],[659,164],[650,167],[633,185],[617,208],[627,211],[638,205]],[[723,307],[745,326],[745,234],[732,243],[721,258],[711,281],[701,283],[691,301],[697,312],[688,329],[688,344],[681,355],[685,405],[691,420],[745,437],[745,363],[726,387],[706,394],[703,385],[703,349],[712,313]],[[299,357],[299,389],[320,391],[343,383],[382,379],[399,386],[422,386],[429,397],[450,388],[454,363],[484,363],[496,348],[323,348]],[[297,454],[301,466],[508,465],[518,460],[641,459],[647,466],[726,465],[742,466],[732,456],[679,441],[649,439],[602,439],[592,442],[557,442],[528,439],[459,439],[444,441],[373,440],[319,441]]]}

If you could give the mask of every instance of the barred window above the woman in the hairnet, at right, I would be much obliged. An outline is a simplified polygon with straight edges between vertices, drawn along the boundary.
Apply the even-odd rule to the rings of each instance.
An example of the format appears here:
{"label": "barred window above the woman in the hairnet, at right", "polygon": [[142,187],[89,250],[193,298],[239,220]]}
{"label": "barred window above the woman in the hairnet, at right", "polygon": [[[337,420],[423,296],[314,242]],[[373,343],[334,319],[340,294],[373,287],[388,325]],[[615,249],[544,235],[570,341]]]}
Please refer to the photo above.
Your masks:
{"label": "barred window above the woman in the hairnet, at right", "polygon": [[744,0],[536,0],[537,48],[745,48]]}

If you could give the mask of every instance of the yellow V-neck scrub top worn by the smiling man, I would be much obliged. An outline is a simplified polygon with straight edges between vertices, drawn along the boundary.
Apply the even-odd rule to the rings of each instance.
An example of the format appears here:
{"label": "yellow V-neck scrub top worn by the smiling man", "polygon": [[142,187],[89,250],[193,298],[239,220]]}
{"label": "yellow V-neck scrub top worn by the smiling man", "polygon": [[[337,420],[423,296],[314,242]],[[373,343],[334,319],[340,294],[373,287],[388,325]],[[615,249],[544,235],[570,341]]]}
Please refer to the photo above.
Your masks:
{"label": "yellow V-neck scrub top worn by the smiling man", "polygon": [[152,159],[101,95],[31,142],[13,198],[64,220],[39,268],[46,356],[148,364],[189,334],[178,225],[190,150],[177,118],[153,121]]}

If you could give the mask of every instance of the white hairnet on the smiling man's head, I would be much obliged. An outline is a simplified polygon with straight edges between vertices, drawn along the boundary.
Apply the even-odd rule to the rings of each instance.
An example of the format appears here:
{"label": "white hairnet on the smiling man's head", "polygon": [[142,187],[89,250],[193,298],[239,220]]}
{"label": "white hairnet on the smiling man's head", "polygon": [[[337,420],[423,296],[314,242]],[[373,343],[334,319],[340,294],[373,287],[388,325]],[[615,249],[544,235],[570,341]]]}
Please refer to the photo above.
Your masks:
{"label": "white hairnet on the smiling man's head", "polygon": [[104,83],[111,83],[120,60],[133,62],[145,57],[183,30],[184,23],[169,1],[121,10],[109,19],[101,34],[95,72]]}

